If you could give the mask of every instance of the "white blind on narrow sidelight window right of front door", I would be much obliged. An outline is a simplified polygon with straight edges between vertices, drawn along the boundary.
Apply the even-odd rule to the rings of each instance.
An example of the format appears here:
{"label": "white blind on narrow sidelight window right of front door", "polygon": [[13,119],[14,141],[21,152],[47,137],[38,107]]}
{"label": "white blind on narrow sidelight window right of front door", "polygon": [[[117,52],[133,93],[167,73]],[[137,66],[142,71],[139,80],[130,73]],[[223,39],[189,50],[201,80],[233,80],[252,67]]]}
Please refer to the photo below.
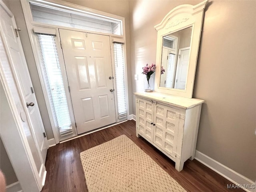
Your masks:
{"label": "white blind on narrow sidelight window right of front door", "polygon": [[126,102],[126,87],[125,87],[125,71],[124,71],[124,48],[120,43],[114,42],[114,60],[115,60],[115,75],[116,75],[116,95],[118,118],[126,118],[127,102]]}

